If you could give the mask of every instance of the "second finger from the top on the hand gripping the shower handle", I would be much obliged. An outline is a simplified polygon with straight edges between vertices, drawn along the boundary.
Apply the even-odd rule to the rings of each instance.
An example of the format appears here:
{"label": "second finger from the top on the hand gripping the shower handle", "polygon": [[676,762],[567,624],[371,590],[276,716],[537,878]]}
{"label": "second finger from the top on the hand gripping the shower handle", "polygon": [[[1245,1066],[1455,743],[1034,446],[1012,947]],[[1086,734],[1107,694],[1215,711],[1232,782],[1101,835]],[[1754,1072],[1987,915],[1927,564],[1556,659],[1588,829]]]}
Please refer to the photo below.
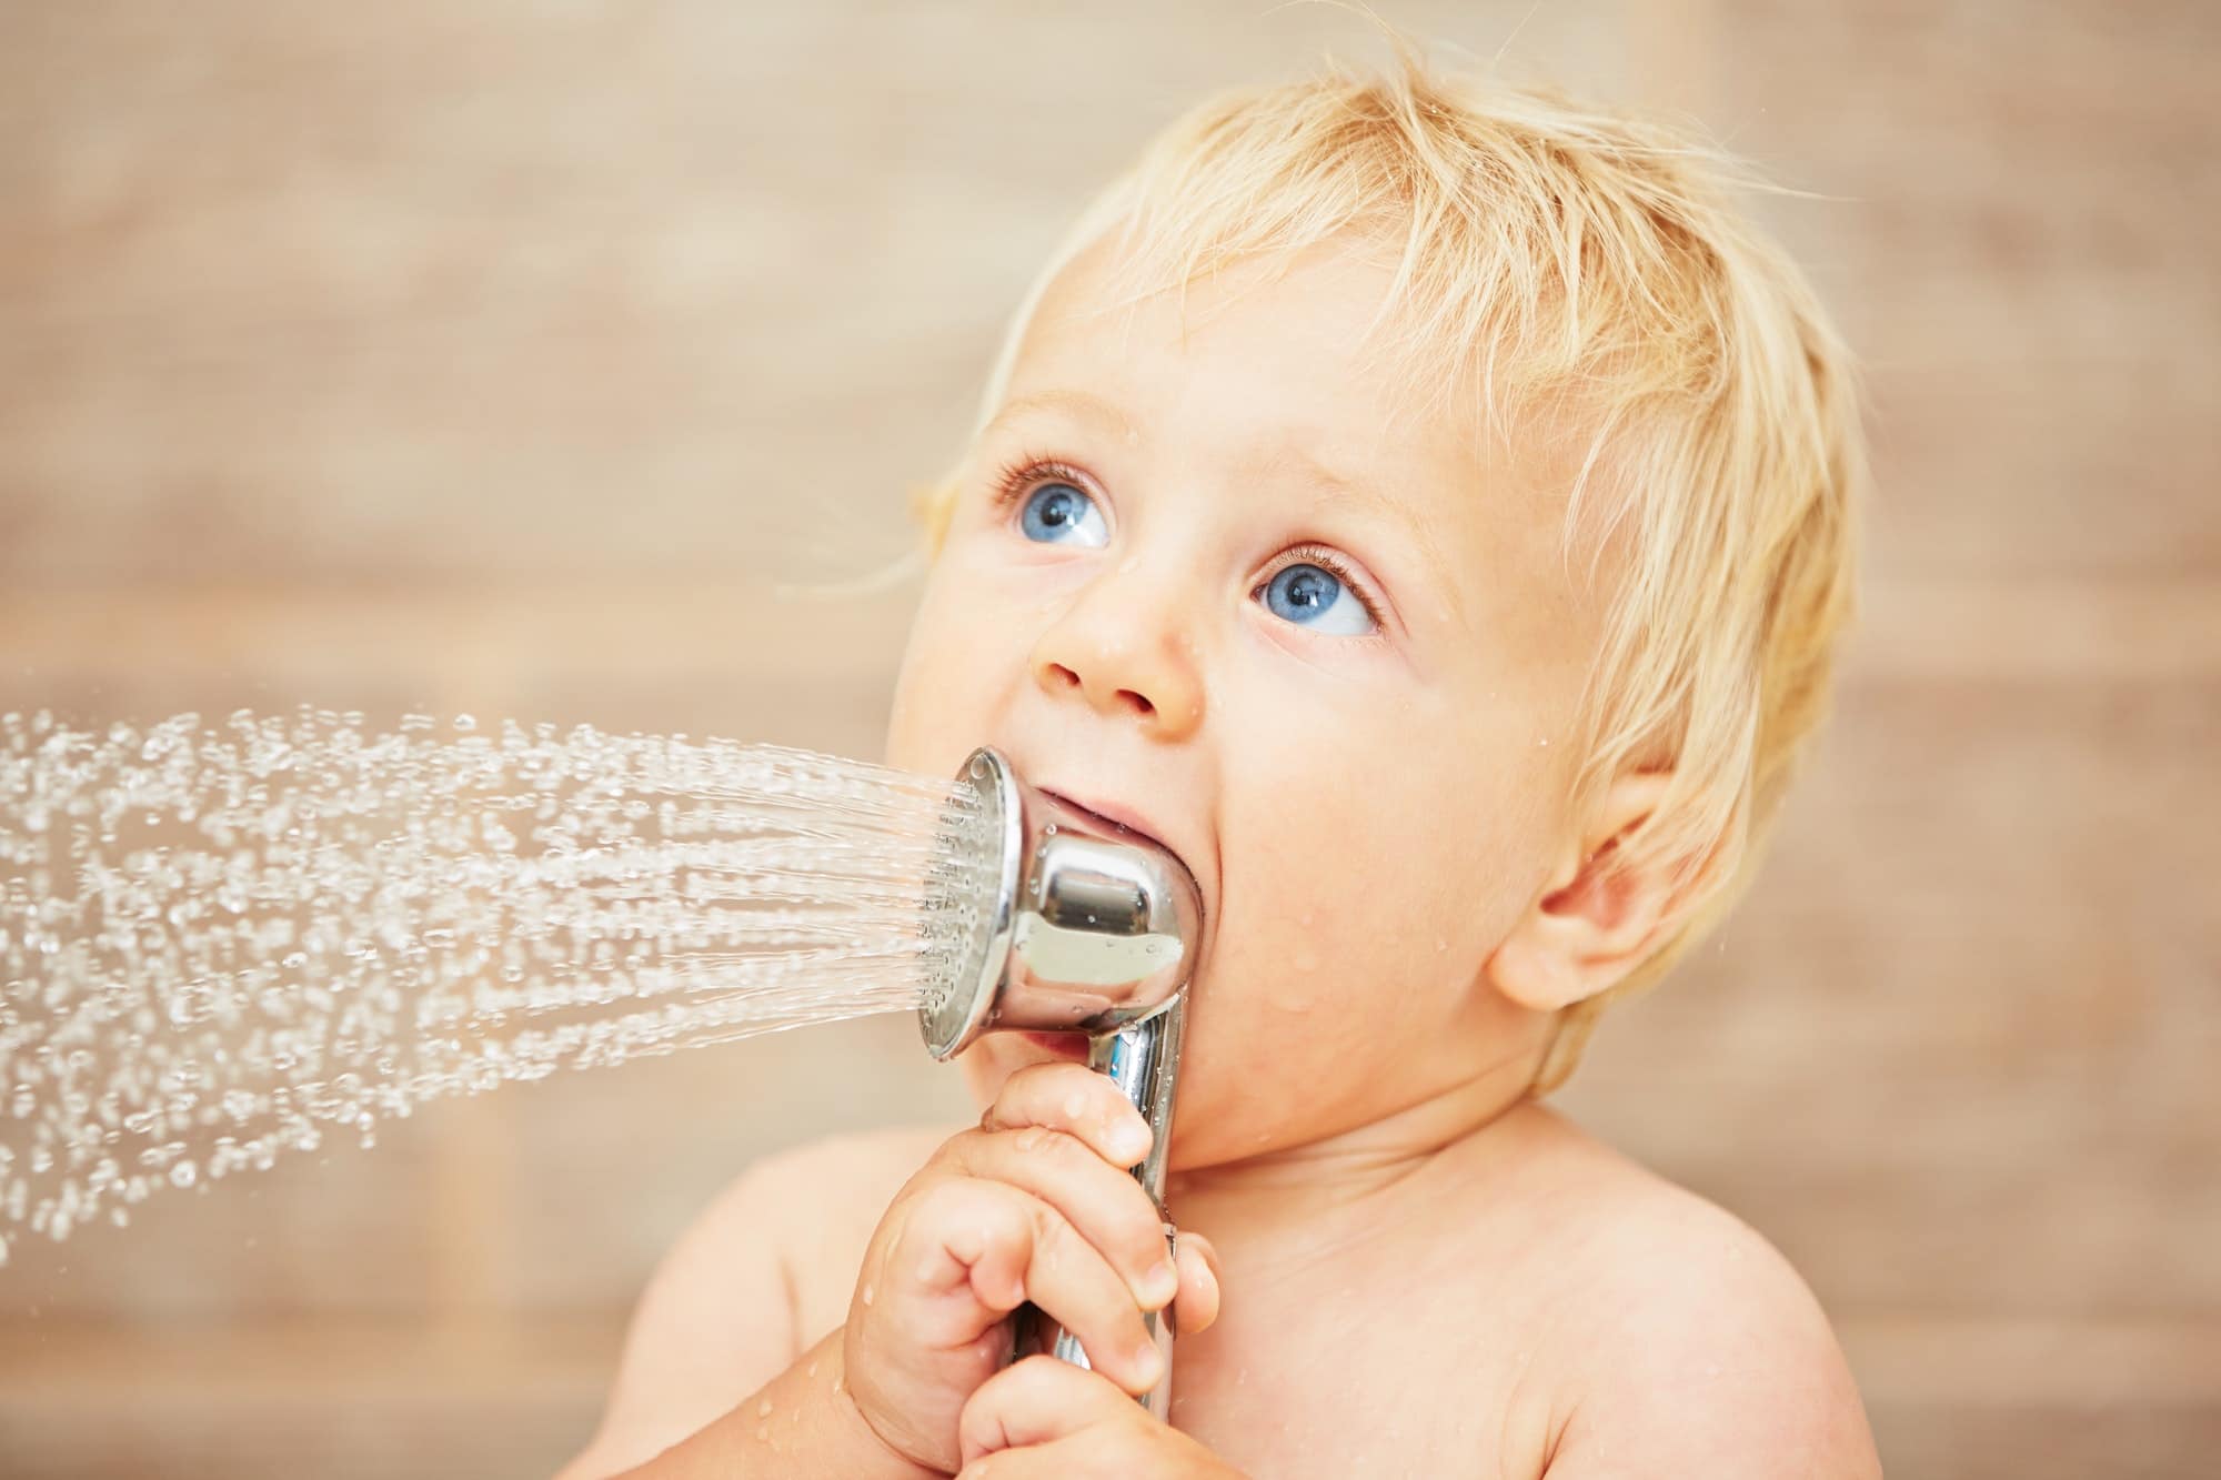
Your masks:
{"label": "second finger from the top on the hand gripping the shower handle", "polygon": [[1022,1187],[1057,1209],[1126,1280],[1144,1311],[1162,1311],[1179,1293],[1155,1200],[1068,1131],[1037,1124],[966,1131],[948,1142],[946,1162],[964,1176]]}

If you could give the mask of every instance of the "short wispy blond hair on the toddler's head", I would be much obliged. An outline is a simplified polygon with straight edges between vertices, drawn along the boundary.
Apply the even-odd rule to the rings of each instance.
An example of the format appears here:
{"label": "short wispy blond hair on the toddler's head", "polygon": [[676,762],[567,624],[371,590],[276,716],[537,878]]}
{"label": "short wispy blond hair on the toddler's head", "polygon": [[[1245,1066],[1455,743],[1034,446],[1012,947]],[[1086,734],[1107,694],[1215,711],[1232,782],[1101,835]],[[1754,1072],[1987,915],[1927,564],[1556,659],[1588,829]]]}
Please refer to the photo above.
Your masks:
{"label": "short wispy blond hair on the toddler's head", "polygon": [[[1397,67],[1219,93],[1079,216],[988,378],[999,409],[1051,280],[1117,231],[1137,296],[1355,236],[1399,251],[1384,318],[1406,382],[1477,387],[1586,433],[1564,549],[1606,549],[1615,589],[1581,704],[1575,816],[1624,769],[1670,769],[1606,871],[1666,867],[1659,944],[1559,1013],[1535,1080],[1572,1071],[1597,1016],[1652,984],[1741,898],[1826,713],[1852,616],[1866,467],[1855,367],[1803,276],[1730,196],[1730,156],[1550,89]],[[1377,320],[1379,322],[1379,320]],[[1530,427],[1532,436],[1532,427]],[[1590,509],[1597,487],[1606,502]],[[939,549],[953,476],[915,511]]]}

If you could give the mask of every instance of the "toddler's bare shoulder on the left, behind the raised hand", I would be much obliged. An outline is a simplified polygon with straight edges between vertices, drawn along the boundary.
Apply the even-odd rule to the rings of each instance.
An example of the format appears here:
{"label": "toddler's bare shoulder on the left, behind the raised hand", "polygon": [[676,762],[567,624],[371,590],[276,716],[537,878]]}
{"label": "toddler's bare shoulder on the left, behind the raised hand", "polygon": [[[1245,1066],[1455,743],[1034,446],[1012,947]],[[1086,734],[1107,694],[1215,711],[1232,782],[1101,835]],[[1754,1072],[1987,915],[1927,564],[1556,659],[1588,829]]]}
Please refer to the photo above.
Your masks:
{"label": "toddler's bare shoulder on the left, behind the raised hand", "polygon": [[[951,1129],[895,1127],[766,1156],[671,1244],[626,1329],[602,1429],[564,1476],[649,1460],[837,1327],[864,1247]],[[831,1316],[831,1320],[828,1320]]]}

